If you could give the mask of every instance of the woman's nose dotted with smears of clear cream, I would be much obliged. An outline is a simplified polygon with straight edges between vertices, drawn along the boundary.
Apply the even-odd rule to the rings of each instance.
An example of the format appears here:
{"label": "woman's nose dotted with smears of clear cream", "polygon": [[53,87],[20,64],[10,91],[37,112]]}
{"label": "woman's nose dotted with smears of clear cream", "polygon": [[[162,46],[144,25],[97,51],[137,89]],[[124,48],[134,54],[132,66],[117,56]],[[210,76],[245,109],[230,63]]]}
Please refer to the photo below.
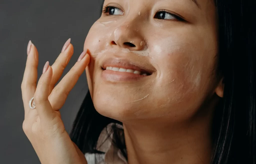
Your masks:
{"label": "woman's nose dotted with smears of clear cream", "polygon": [[145,47],[144,38],[139,30],[136,30],[127,24],[116,28],[111,35],[111,46],[128,48],[130,51],[140,51]]}

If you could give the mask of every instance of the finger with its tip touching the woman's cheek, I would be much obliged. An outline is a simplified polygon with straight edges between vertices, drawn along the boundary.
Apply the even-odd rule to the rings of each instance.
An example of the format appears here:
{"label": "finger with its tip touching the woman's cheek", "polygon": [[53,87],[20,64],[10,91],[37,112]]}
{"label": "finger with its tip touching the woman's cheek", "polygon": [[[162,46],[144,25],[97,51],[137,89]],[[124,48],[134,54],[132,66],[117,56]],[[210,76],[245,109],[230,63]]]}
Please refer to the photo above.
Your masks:
{"label": "finger with its tip touching the woman's cheek", "polygon": [[89,54],[84,51],[78,62],[71,68],[71,70],[63,77],[58,85],[52,90],[49,95],[49,101],[53,110],[59,110],[65,103],[67,96],[74,85],[77,83],[79,77],[87,67],[90,61]]}

